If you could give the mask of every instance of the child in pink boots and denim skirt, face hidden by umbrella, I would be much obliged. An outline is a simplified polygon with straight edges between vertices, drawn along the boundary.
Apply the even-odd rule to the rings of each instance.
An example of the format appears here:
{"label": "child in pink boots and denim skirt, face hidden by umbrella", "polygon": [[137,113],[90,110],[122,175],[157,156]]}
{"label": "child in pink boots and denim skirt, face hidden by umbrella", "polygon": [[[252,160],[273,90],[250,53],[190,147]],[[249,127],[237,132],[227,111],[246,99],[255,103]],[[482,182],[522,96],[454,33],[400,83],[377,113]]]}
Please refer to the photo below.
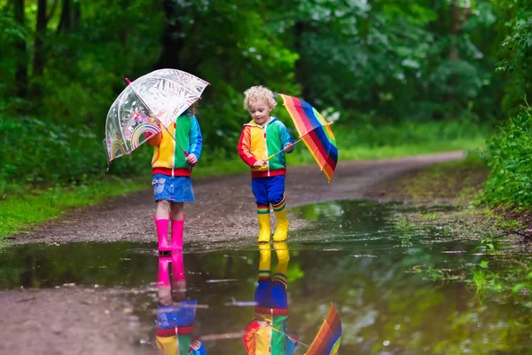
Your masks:
{"label": "child in pink boots and denim skirt, face hidden by umbrella", "polygon": [[[200,160],[202,137],[196,119],[195,104],[177,117],[167,130],[161,130],[148,141],[155,146],[153,153],[153,194],[157,209],[153,218],[157,226],[159,252],[183,250],[184,202],[194,201],[192,167]],[[176,147],[187,149],[184,153]],[[168,225],[171,235],[168,243]]]}

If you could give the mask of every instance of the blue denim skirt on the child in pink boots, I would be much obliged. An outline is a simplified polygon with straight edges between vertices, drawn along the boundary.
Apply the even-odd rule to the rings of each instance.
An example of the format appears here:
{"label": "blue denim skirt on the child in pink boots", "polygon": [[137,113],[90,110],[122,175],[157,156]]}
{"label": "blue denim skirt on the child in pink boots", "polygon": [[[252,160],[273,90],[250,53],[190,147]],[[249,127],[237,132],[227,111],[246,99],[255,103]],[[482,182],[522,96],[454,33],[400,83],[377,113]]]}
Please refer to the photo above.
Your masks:
{"label": "blue denim skirt on the child in pink boots", "polygon": [[195,201],[192,190],[192,178],[168,177],[155,174],[152,180],[155,201],[190,202]]}

